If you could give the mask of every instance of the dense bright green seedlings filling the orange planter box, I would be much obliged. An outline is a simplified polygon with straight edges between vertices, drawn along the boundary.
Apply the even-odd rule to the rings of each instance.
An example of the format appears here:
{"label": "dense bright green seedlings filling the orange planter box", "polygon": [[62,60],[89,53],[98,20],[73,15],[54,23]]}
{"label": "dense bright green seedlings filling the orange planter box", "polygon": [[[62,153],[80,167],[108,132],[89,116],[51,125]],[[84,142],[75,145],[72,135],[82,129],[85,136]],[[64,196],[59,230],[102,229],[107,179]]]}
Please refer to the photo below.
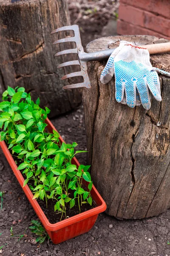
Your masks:
{"label": "dense bright green seedlings filling the orange planter box", "polygon": [[[40,99],[31,100],[30,93],[23,87],[8,87],[0,102],[1,140],[5,140],[11,154],[17,157],[18,170],[21,170],[33,199],[46,202],[55,201],[54,211],[65,215],[66,209],[82,204],[92,205],[90,166],[72,164],[77,143],[60,143],[59,134],[53,130],[48,133],[45,123],[50,110],[40,108]],[[83,188],[86,180],[88,191]]]}

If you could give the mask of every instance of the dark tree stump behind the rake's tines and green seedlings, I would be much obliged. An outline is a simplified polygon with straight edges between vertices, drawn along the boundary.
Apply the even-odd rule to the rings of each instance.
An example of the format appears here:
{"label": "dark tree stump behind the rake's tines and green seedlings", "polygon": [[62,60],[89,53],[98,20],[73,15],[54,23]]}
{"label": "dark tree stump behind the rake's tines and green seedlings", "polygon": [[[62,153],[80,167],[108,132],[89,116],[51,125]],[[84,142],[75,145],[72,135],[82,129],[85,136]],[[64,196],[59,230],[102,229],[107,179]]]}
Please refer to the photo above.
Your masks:
{"label": "dark tree stump behind the rake's tines and green seedlings", "polygon": [[[53,45],[51,32],[69,25],[65,0],[0,0],[0,95],[7,86],[23,86],[33,99],[56,116],[81,102],[79,90],[64,90],[66,70],[57,69],[68,56],[54,57],[71,44]],[[67,36],[63,33],[63,37]],[[73,72],[71,71],[69,72]]]}

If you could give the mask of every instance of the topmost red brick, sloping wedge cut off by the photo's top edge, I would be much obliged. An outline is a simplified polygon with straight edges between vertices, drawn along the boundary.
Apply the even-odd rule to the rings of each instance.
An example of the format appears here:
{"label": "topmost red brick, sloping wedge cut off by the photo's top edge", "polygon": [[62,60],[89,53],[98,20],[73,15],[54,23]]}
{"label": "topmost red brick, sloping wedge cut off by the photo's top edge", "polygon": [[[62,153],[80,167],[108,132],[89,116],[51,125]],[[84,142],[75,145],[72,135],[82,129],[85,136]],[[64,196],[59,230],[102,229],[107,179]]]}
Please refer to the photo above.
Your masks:
{"label": "topmost red brick, sloping wedge cut off by the photo's top edge", "polygon": [[170,0],[120,0],[120,3],[139,7],[170,18]]}

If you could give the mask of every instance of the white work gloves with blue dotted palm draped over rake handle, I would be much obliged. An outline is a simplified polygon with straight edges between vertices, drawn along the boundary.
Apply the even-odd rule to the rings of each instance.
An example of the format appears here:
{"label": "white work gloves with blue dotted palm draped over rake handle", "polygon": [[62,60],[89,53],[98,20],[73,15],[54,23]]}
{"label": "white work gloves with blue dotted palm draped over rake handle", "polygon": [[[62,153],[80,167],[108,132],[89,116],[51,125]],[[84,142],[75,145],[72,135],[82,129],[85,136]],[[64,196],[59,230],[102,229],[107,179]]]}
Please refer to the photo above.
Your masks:
{"label": "white work gloves with blue dotted palm draped over rake handle", "polygon": [[114,61],[112,55],[110,56],[100,81],[103,84],[108,83],[115,73],[116,101],[125,104],[126,98],[126,104],[130,108],[142,103],[148,110],[151,106],[150,92],[156,100],[161,101],[157,72],[166,76],[170,76],[170,73],[152,67],[147,49],[122,41],[123,44]]}

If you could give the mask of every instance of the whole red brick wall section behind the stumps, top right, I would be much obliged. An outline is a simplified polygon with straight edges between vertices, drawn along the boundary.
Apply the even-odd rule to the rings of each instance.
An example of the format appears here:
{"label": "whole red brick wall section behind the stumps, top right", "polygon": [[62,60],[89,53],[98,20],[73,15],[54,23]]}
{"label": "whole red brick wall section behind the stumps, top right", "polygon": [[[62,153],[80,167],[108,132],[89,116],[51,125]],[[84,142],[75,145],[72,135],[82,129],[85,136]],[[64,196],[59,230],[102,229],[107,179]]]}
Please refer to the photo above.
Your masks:
{"label": "whole red brick wall section behind the stumps, top right", "polygon": [[120,0],[117,33],[170,40],[170,0]]}

